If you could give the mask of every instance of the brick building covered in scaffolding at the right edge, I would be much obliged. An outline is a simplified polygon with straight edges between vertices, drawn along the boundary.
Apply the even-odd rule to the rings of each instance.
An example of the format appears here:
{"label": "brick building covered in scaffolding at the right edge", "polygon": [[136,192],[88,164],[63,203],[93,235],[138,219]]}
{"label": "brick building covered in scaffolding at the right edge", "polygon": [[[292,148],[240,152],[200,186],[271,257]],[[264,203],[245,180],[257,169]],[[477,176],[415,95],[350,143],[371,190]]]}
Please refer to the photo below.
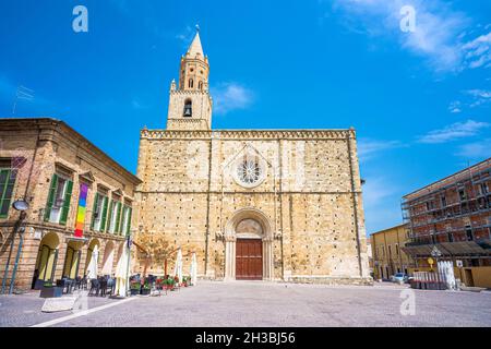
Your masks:
{"label": "brick building covered in scaffolding at the right edge", "polygon": [[405,195],[403,212],[416,268],[436,256],[467,286],[491,287],[491,159]]}

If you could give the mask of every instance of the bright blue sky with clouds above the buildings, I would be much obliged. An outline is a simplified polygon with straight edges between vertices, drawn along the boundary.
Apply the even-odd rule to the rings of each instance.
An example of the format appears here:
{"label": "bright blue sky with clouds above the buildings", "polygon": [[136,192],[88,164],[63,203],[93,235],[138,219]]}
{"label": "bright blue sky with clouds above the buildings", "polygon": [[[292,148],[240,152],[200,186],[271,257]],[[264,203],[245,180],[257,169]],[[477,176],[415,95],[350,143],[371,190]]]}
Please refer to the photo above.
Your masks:
{"label": "bright blue sky with clouds above the buildings", "polygon": [[0,117],[25,86],[15,117],[62,119],[135,171],[196,23],[215,129],[357,129],[369,233],[402,221],[404,194],[491,155],[487,0],[1,1]]}

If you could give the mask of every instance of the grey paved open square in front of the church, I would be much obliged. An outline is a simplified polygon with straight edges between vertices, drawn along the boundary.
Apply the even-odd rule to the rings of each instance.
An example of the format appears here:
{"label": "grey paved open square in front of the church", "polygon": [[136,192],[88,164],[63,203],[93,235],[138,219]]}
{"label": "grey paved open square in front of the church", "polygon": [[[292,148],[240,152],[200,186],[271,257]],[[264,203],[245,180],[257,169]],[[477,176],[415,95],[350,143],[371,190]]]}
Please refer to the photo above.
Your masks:
{"label": "grey paved open square in front of the church", "polygon": [[91,297],[84,315],[41,313],[36,293],[2,296],[0,326],[491,326],[490,291],[416,290],[416,315],[404,316],[405,288],[202,281],[129,301]]}

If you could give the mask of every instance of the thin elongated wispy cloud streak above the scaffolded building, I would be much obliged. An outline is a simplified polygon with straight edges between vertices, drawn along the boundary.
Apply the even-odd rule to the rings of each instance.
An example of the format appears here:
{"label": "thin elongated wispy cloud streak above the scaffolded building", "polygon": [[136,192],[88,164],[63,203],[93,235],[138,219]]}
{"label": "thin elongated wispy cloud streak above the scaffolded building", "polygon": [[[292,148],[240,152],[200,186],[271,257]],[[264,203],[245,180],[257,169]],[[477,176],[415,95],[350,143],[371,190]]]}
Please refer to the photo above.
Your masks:
{"label": "thin elongated wispy cloud streak above the scaffolded building", "polygon": [[467,120],[465,122],[456,122],[444,127],[440,130],[433,130],[426,135],[419,137],[420,143],[446,143],[458,139],[469,137],[478,134],[482,129],[489,128],[488,122],[479,122]]}

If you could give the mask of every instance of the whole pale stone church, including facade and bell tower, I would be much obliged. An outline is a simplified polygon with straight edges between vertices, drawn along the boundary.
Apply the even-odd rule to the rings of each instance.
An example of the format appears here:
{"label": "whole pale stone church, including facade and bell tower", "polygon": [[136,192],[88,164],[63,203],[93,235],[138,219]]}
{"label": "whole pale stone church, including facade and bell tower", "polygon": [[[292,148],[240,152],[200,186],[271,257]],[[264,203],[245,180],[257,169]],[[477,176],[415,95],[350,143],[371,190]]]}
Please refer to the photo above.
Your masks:
{"label": "whole pale stone church, including facade and bell tower", "polygon": [[166,129],[141,131],[136,239],[181,248],[184,274],[196,253],[201,278],[369,284],[355,130],[213,130],[208,73],[196,33]]}

